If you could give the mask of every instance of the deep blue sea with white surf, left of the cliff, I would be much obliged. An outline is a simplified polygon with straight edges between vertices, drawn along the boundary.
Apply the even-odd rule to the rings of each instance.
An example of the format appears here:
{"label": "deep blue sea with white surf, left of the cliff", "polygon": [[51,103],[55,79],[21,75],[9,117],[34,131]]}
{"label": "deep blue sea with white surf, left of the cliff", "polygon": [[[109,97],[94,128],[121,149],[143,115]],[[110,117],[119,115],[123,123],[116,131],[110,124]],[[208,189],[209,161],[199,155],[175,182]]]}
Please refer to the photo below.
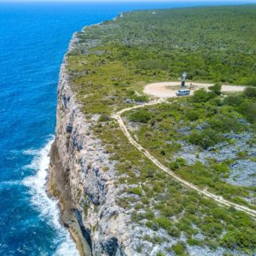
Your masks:
{"label": "deep blue sea with white surf, left of the cliff", "polygon": [[73,32],[125,10],[209,4],[0,3],[0,255],[78,255],[46,192],[58,73]]}

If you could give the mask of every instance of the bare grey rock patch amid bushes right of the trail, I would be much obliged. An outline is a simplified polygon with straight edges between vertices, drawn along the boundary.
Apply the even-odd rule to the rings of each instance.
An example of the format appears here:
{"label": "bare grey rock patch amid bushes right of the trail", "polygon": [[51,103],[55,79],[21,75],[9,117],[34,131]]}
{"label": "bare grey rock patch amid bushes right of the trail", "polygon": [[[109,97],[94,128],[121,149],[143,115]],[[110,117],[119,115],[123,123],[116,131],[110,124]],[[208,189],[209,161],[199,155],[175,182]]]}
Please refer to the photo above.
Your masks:
{"label": "bare grey rock patch amid bushes right of the trail", "polygon": [[[182,147],[174,159],[182,157],[189,165],[195,164],[196,161],[207,164],[209,159],[215,159],[218,162],[234,160],[234,163],[229,166],[230,177],[225,181],[234,185],[255,187],[256,162],[248,159],[248,157],[256,155],[256,145],[249,143],[253,135],[250,132],[244,132],[240,134],[229,133],[224,136],[232,140],[233,143],[218,143],[207,150],[183,141],[178,142]],[[245,154],[246,159],[239,157],[239,153]]]}

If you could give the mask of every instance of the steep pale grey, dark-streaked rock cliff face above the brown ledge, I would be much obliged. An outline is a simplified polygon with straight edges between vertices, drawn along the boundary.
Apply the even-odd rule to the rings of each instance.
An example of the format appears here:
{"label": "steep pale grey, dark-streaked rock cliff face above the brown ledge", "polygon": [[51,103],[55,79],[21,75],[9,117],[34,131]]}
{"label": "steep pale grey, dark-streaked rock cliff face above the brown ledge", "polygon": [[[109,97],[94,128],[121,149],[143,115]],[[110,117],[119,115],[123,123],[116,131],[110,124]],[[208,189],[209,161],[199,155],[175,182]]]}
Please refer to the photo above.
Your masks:
{"label": "steep pale grey, dark-streaked rock cliff face above the brown ledge", "polygon": [[[108,160],[109,155],[91,131],[90,124],[97,116],[86,119],[81,113],[68,81],[64,61],[58,84],[54,144],[61,171],[59,168],[52,172],[62,172],[81,232],[92,254],[134,255],[130,246],[129,218],[115,203],[118,189],[114,187],[114,163]],[[55,166],[53,156],[51,162],[51,166]]]}

